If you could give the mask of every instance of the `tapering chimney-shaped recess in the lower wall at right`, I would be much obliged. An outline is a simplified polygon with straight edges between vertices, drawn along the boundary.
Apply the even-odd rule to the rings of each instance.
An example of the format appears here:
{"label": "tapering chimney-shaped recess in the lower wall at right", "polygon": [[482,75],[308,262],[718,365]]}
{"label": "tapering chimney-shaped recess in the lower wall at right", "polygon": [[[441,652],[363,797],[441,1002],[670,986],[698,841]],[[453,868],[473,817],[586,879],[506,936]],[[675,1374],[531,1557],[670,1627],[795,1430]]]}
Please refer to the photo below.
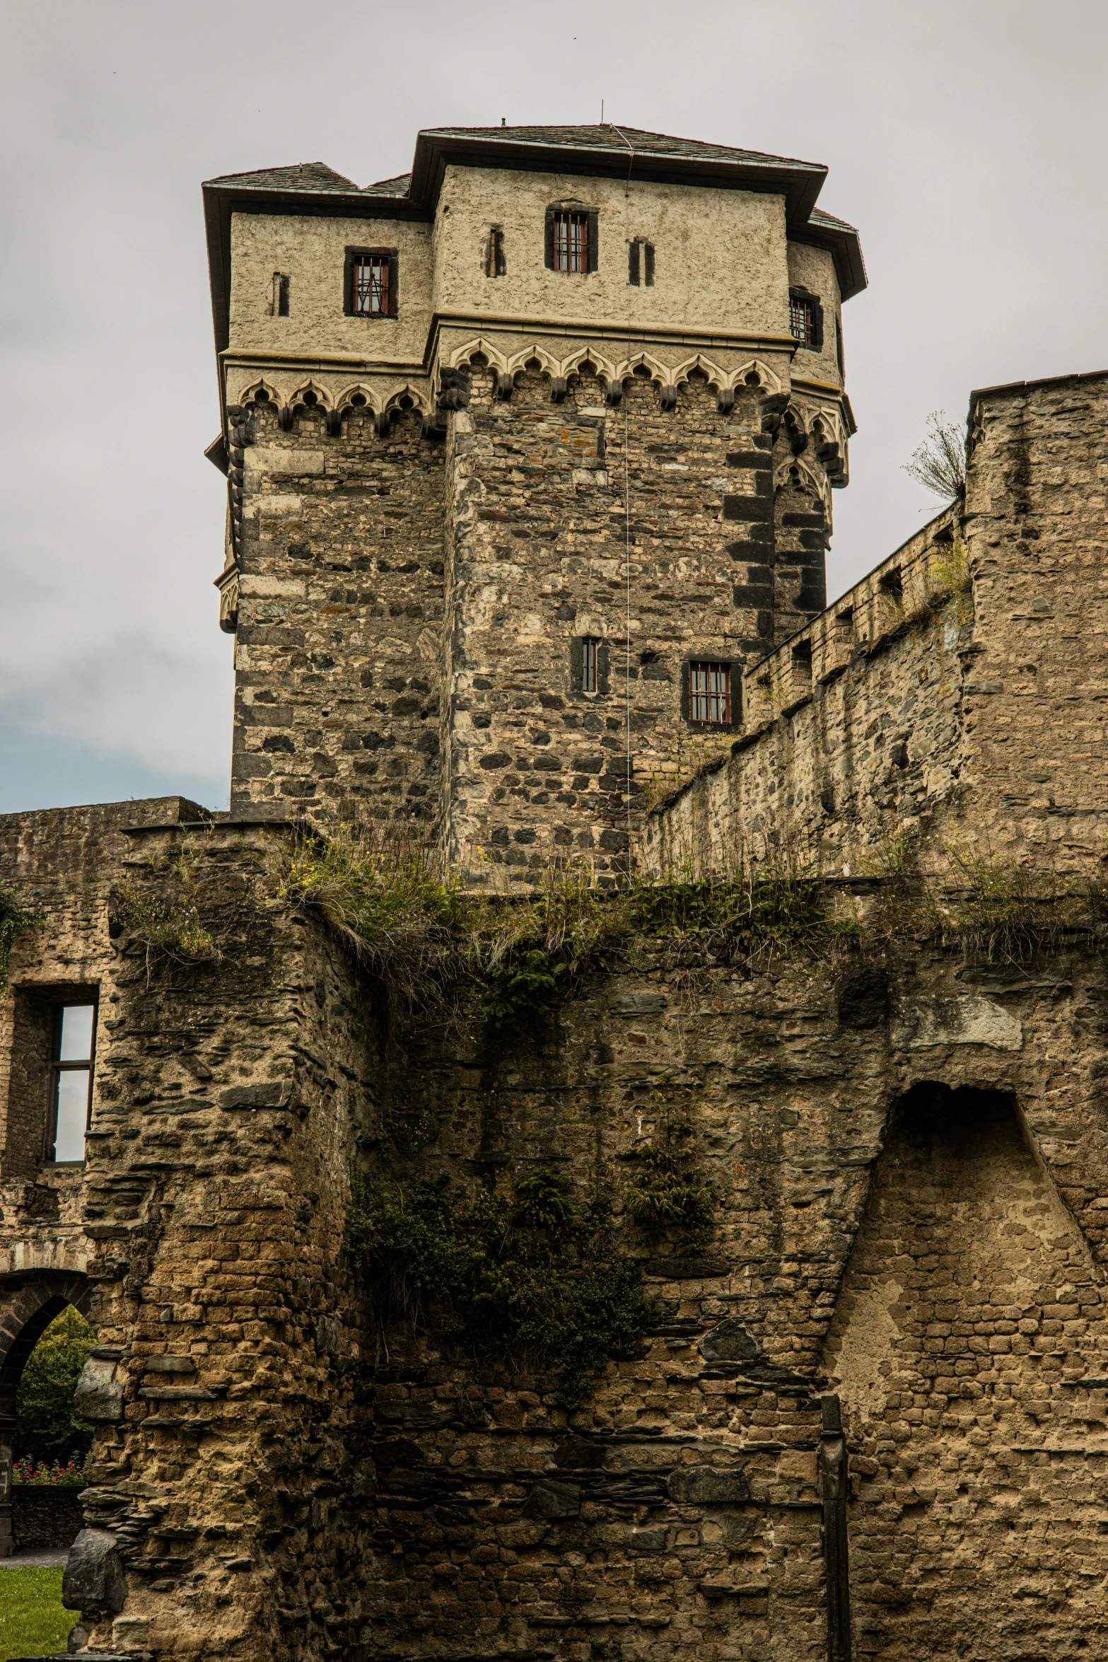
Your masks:
{"label": "tapering chimney-shaped recess in the lower wall at right", "polygon": [[1015,1099],[907,1092],[824,1353],[849,1418],[864,1650],[1103,1649],[1106,1313]]}

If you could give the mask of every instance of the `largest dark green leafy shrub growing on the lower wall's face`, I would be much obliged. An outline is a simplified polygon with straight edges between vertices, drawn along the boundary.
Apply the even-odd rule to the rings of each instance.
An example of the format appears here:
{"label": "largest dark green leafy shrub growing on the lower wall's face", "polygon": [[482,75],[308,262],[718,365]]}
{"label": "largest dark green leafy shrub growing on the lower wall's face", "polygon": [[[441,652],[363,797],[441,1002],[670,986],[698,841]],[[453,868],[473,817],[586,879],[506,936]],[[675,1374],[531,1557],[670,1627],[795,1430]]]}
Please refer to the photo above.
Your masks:
{"label": "largest dark green leafy shrub growing on the lower wall's face", "polygon": [[550,1373],[558,1401],[576,1408],[610,1361],[640,1355],[653,1320],[616,1237],[603,1187],[575,1200],[552,1167],[512,1197],[355,1173],[346,1248],[382,1330],[429,1326],[477,1365]]}

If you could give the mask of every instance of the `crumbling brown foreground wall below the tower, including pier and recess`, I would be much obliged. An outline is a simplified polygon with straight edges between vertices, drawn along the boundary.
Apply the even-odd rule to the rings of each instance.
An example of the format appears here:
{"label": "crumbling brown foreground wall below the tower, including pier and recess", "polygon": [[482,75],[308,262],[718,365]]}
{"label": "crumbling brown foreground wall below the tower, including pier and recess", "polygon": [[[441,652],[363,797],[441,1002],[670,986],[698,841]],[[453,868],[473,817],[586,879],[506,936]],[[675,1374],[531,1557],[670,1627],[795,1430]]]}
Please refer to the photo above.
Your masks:
{"label": "crumbling brown foreground wall below the tower, including pier and recess", "polygon": [[[158,894],[151,843],[126,869]],[[1098,1642],[1100,949],[1008,976],[905,944],[859,1001],[849,966],[678,972],[645,941],[510,1039],[390,1032],[316,924],[257,906],[262,851],[231,824],[208,843],[218,962],[148,971],[140,939],[115,942],[86,1233],[123,1418],[100,1426],[85,1514],[128,1597],[93,1642],[819,1657],[827,1388],[862,1654],[954,1657],[985,1589],[983,1655]],[[944,1089],[1002,1095],[952,1119]],[[581,1409],[434,1326],[377,1328],[341,1251],[351,1160],[502,1193],[555,1165],[583,1198],[601,1158],[618,1195],[674,1107],[718,1190],[713,1240],[689,1256],[625,1220],[656,1325]],[[1078,1579],[1052,1546],[1071,1531]]]}

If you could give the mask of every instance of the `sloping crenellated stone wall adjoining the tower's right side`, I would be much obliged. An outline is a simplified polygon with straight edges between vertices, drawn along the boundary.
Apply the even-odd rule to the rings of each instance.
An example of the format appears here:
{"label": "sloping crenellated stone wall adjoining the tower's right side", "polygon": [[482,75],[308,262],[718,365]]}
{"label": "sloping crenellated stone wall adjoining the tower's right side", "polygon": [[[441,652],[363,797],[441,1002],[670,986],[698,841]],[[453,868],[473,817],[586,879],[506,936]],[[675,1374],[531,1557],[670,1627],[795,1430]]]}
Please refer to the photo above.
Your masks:
{"label": "sloping crenellated stone wall adjoining the tower's right side", "polygon": [[1098,869],[1105,386],[973,396],[965,510],[746,673],[744,735],[651,816],[655,864],[723,864],[772,834],[834,873],[912,824],[924,859],[934,838]]}

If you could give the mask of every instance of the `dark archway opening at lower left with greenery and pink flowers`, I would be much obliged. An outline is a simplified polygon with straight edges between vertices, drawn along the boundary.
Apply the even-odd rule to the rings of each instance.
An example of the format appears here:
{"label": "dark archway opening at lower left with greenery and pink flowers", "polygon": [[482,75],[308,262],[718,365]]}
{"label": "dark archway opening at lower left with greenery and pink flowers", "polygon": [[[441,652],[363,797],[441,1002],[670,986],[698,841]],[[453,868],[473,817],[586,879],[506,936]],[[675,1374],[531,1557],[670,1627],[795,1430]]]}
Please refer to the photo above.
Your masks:
{"label": "dark archway opening at lower left with greenery and pink flowers", "polygon": [[[71,1413],[73,1386],[80,1373],[76,1365],[78,1360],[83,1365],[90,1348],[83,1331],[88,1301],[86,1278],[78,1273],[47,1271],[0,1280],[0,1557],[10,1557],[20,1546],[55,1544],[32,1541],[30,1536],[60,1529],[71,1539],[75,1527],[80,1527],[76,1487],[70,1487],[68,1496],[35,1506],[42,1496],[23,1492],[22,1484],[15,1486],[20,1494],[13,1502],[12,1479],[13,1464],[20,1458],[23,1469],[35,1456],[38,1466],[43,1464],[43,1458],[50,1464],[51,1441],[56,1443],[55,1464],[61,1461],[68,1446],[76,1451],[78,1444],[90,1441]],[[68,1311],[71,1318],[66,1320]],[[43,1358],[38,1346],[51,1330],[58,1333],[58,1340],[47,1341]],[[95,1335],[91,1343],[95,1345]],[[37,1389],[22,1389],[28,1383]],[[56,1492],[53,1484],[48,1489],[43,1486],[43,1492],[50,1491]],[[71,1519],[61,1516],[66,1512],[66,1499]],[[27,1517],[20,1531],[18,1519],[23,1514]]]}

